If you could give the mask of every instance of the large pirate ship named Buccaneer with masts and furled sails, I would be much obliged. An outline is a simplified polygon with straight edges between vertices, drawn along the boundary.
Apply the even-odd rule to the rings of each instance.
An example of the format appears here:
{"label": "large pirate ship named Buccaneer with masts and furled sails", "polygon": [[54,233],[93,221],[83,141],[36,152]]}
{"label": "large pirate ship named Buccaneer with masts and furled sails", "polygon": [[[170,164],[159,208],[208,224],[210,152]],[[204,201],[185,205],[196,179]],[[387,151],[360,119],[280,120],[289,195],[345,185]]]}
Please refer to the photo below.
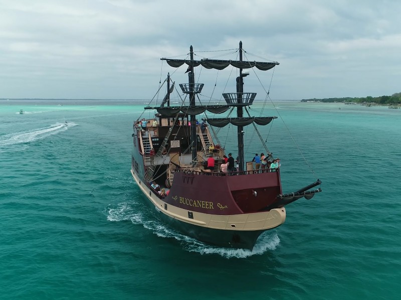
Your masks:
{"label": "large pirate ship named Buccaneer with masts and furled sails", "polygon": [[[244,168],[244,126],[252,124],[257,130],[256,125],[277,118],[250,115],[247,106],[253,104],[256,93],[244,92],[244,78],[249,74],[244,69],[269,70],[279,63],[246,61],[243,53],[240,42],[239,60],[196,60],[192,46],[185,59],[161,58],[174,68],[187,65],[188,83],[179,84],[185,98],[179,105],[170,105],[175,84],[168,74],[161,104],[145,107],[155,112],[154,118],[140,122],[140,116],[134,124],[131,173],[146,202],[169,226],[207,244],[252,250],[262,232],[285,221],[285,206],[303,197],[312,198],[321,191],[312,189],[321,181],[283,194],[280,168],[254,169],[249,163]],[[229,65],[239,71],[236,92],[223,93],[224,104],[202,104],[198,95],[204,84],[195,83],[196,67],[222,70]],[[223,113],[225,117],[209,117]],[[202,128],[197,123],[201,114],[209,123]],[[214,127],[228,124],[237,126],[238,157],[235,168],[229,165],[229,171],[222,172],[227,153],[213,133]],[[272,158],[264,146],[266,156]],[[207,169],[210,156],[214,163],[212,169]]]}

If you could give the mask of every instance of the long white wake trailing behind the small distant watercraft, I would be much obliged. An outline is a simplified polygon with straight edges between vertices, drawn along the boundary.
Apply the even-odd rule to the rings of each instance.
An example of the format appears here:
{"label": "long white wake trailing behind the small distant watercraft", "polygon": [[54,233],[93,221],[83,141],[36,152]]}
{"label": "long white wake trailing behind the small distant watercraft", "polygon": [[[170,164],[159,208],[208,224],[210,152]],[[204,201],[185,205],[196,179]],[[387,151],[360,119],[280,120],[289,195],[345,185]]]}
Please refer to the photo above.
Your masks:
{"label": "long white wake trailing behind the small distant watercraft", "polygon": [[63,132],[68,129],[68,127],[75,126],[76,124],[70,123],[66,126],[64,123],[56,123],[48,127],[34,129],[30,131],[21,131],[6,134],[0,137],[0,146],[9,146],[20,143],[30,143],[39,139],[46,138],[50,135]]}

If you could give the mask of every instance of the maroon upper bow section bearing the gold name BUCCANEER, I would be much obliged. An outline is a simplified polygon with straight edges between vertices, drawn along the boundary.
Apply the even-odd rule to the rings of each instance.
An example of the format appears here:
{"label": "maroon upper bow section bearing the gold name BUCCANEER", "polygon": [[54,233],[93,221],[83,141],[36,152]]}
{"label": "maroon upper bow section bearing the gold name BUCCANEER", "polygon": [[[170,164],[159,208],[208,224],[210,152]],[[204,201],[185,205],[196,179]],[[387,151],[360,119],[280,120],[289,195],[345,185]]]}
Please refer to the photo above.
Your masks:
{"label": "maroon upper bow section bearing the gold name BUCCANEER", "polygon": [[280,193],[279,171],[233,176],[176,171],[164,200],[191,211],[231,215],[259,211]]}

